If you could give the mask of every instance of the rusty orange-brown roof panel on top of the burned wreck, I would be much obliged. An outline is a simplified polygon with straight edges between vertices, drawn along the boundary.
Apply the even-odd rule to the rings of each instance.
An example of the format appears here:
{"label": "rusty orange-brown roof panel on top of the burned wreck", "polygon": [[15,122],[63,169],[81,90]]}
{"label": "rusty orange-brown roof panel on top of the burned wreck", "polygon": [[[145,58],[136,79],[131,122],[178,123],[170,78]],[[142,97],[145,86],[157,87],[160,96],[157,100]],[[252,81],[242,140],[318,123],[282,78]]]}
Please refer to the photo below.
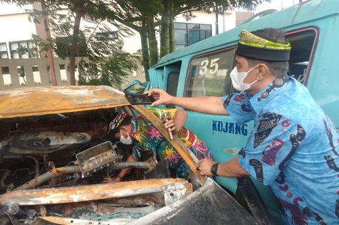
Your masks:
{"label": "rusty orange-brown roof panel on top of the burned wreck", "polygon": [[0,119],[128,106],[109,86],[29,87],[0,91]]}

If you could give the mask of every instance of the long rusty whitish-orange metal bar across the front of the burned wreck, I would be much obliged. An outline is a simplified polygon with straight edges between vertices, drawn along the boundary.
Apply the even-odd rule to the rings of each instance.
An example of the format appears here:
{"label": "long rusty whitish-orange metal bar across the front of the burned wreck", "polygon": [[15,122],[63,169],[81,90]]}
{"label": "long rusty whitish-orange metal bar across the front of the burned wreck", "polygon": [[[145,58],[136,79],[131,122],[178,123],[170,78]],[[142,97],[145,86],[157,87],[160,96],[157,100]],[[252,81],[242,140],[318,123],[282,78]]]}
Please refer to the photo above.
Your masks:
{"label": "long rusty whitish-orange metal bar across the front of the burned wreck", "polygon": [[172,190],[173,185],[185,189],[185,194],[192,193],[192,184],[185,179],[148,179],[111,184],[93,184],[71,186],[64,188],[44,188],[33,190],[15,190],[0,195],[0,204],[17,202],[21,206],[40,204],[63,204],[71,202],[86,202],[115,197],[145,195]]}

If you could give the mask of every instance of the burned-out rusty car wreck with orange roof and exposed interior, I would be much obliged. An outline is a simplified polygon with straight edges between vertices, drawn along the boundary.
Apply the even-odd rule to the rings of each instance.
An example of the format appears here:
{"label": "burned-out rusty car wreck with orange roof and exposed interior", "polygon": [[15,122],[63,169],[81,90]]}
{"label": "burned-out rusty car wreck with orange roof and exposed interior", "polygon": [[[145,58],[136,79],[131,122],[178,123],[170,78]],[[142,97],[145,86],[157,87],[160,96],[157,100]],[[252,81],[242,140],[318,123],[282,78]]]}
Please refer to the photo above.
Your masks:
{"label": "burned-out rusty car wreck with orange roof and exposed interior", "polygon": [[[129,146],[107,135],[124,111],[154,124],[190,168],[177,178],[166,160],[125,162]],[[143,106],[107,86],[0,92],[1,224],[259,224]],[[174,135],[175,136],[175,135]],[[134,168],[118,183],[104,183]]]}

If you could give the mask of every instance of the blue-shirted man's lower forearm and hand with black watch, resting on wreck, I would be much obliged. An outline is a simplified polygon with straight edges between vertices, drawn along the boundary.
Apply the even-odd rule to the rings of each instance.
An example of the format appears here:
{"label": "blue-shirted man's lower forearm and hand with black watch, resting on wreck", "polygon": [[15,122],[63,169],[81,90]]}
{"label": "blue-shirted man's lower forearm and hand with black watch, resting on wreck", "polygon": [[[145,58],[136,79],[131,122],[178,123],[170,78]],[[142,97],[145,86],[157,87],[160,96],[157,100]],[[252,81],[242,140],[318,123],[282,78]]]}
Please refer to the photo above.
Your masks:
{"label": "blue-shirted man's lower forearm and hand with black watch, resting on wreck", "polygon": [[[196,164],[196,168],[199,168],[200,175],[212,176],[211,166],[215,163],[210,159],[202,159]],[[240,166],[237,155],[235,155],[230,161],[219,164],[217,175],[220,177],[244,177],[250,174]]]}

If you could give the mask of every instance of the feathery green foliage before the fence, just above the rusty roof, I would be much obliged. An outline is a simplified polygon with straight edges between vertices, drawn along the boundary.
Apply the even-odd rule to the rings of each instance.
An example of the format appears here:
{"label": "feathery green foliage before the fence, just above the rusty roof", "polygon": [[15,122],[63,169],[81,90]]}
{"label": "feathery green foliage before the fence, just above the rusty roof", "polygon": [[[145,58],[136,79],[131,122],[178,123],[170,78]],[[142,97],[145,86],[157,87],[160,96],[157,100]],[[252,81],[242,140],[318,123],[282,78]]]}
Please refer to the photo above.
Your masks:
{"label": "feathery green foliage before the fence, just above the rusty roof", "polygon": [[[97,26],[96,33],[107,33],[107,26]],[[137,69],[140,55],[122,52],[121,39],[97,39],[91,27],[84,29],[87,40],[87,57],[79,63],[80,85],[120,86],[132,70]]]}

